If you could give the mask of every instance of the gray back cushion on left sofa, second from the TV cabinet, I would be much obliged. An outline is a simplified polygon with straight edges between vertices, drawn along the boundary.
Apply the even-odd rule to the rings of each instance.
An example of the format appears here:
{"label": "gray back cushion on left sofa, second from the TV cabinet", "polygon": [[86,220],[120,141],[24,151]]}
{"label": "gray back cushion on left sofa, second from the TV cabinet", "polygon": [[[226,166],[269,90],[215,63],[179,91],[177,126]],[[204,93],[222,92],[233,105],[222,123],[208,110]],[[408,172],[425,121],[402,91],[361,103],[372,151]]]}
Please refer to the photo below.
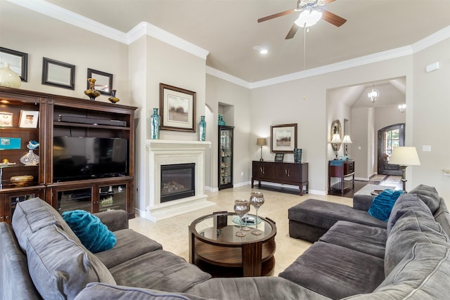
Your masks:
{"label": "gray back cushion on left sofa, second from the TV cabinet", "polygon": [[56,225],[28,237],[27,261],[44,299],[74,299],[89,282],[115,284],[103,263]]}

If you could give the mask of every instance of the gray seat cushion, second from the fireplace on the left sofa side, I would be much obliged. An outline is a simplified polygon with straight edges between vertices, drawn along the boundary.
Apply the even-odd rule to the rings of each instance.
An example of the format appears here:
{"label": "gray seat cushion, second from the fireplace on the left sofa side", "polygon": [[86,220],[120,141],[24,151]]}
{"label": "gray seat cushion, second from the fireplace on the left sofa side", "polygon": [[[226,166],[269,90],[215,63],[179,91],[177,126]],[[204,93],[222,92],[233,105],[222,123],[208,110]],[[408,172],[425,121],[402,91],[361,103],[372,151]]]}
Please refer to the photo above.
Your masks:
{"label": "gray seat cushion, second from the fireplace on the left sofa side", "polygon": [[211,275],[165,250],[143,254],[110,269],[117,285],[185,292]]}

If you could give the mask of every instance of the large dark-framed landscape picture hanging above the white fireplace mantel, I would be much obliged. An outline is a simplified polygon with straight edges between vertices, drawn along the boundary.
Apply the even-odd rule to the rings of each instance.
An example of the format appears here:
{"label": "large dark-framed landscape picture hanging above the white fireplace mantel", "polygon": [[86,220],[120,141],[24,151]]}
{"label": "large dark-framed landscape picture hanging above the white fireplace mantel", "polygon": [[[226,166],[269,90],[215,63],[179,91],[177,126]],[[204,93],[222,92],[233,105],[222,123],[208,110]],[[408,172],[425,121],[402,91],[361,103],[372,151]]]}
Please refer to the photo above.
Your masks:
{"label": "large dark-framed landscape picture hanging above the white fireplace mantel", "polygon": [[196,93],[160,84],[161,129],[195,132]]}

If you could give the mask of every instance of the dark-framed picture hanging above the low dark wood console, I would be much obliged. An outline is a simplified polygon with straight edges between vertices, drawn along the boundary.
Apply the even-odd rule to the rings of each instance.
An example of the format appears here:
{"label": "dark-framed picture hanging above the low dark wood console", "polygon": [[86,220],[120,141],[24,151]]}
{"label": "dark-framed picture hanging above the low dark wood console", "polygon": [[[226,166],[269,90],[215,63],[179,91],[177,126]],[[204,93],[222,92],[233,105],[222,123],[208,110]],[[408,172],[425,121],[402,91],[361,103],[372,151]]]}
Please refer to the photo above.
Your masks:
{"label": "dark-framed picture hanging above the low dark wood console", "polygon": [[297,148],[297,124],[270,126],[270,152],[293,153]]}

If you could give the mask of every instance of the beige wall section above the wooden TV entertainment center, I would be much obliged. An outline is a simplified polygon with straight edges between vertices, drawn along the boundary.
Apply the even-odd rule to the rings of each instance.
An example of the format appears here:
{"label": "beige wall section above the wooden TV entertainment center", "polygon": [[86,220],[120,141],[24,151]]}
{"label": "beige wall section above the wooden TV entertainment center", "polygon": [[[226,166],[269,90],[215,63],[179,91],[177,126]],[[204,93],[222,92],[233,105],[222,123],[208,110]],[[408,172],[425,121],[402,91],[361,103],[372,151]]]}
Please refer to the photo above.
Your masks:
{"label": "beige wall section above the wooden TV entertainment center", "polygon": [[[134,105],[129,94],[127,45],[25,8],[21,15],[9,14],[8,6],[15,4],[8,1],[1,1],[1,6],[0,46],[28,53],[28,81],[20,89],[88,98],[84,91],[90,68],[113,74],[119,104]],[[41,84],[43,57],[75,65],[75,90]],[[109,102],[104,95],[96,101]]]}

